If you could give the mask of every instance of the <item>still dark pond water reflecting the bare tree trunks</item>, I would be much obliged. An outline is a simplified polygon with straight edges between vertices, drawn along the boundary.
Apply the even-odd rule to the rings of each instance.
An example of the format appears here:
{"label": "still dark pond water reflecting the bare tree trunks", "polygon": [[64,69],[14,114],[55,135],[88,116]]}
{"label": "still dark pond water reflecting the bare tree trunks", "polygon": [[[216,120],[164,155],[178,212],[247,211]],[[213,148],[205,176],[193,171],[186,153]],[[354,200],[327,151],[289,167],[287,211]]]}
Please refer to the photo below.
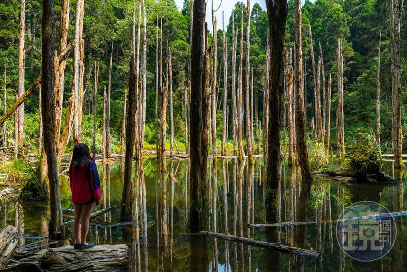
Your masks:
{"label": "still dark pond water reflecting the bare tree trunks", "polygon": [[[316,260],[221,239],[190,235],[190,187],[186,162],[168,161],[168,173],[165,178],[161,178],[156,171],[155,160],[144,161],[143,174],[135,175],[135,214],[138,217],[138,225],[134,227],[106,227],[106,223],[102,222],[119,222],[123,181],[121,162],[105,166],[99,164],[102,199],[95,210],[113,205],[117,208],[100,216],[99,222],[91,223],[88,240],[97,244],[128,244],[134,271],[401,271],[407,265],[407,248],[404,249],[404,243],[407,242],[406,217],[396,219],[397,238],[391,251],[384,258],[367,263],[345,255],[336,239],[336,224],[326,222],[330,218],[338,219],[347,205],[362,200],[379,202],[391,212],[406,210],[403,199],[407,175],[401,177],[402,182],[396,186],[348,186],[316,177],[308,190],[306,182],[298,179],[299,169],[283,164],[277,194],[277,222],[321,219],[323,223],[307,227],[275,228],[272,235],[266,237],[265,229],[249,230],[246,227],[247,223],[265,222],[263,160],[256,158],[253,169],[249,169],[247,164],[238,165],[236,160],[218,159],[217,171],[213,171],[213,162],[209,161],[208,211],[204,230],[220,233],[228,231],[237,236],[321,251],[323,259]],[[397,171],[394,173],[392,162],[385,162],[383,170],[390,175],[399,176]],[[69,182],[65,177],[61,179],[60,190],[62,207],[72,208]],[[304,193],[301,197],[300,192]],[[16,205],[9,202],[1,206],[0,218],[3,220],[0,222],[2,225],[15,225],[18,220],[20,232],[25,235],[46,236],[48,215],[46,205]],[[72,220],[72,217],[64,215],[64,221],[69,220]],[[72,225],[68,226],[72,229]],[[60,244],[63,242],[72,244],[73,234],[70,233],[67,241]],[[23,244],[21,246],[23,247]]]}

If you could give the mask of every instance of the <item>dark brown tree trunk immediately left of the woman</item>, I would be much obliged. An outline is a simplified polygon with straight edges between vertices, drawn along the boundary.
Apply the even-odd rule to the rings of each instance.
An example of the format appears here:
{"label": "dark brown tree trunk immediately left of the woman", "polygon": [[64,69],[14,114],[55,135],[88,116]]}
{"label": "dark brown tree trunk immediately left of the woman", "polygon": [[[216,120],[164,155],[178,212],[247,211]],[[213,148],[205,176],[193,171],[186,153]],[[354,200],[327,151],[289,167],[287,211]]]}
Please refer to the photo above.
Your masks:
{"label": "dark brown tree trunk immediately left of the woman", "polygon": [[[43,1],[42,12],[42,118],[44,121],[44,149],[47,155],[48,180],[50,189],[50,222],[49,235],[54,238],[63,238],[65,228],[62,224],[62,210],[60,202],[60,189],[58,166],[55,146],[55,96],[54,96],[54,63],[53,63],[53,1]],[[44,185],[45,186],[45,183]]]}

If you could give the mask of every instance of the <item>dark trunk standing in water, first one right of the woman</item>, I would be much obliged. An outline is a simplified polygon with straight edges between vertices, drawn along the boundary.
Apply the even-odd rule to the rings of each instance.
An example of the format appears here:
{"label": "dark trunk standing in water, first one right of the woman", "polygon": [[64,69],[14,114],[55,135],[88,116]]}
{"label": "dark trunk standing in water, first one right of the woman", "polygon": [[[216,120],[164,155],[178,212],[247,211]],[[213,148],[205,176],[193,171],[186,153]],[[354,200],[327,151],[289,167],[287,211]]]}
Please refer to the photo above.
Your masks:
{"label": "dark trunk standing in water, first one right of the woman", "polygon": [[[130,77],[129,77],[129,102],[126,122],[126,155],[125,171],[123,179],[122,206],[120,209],[120,221],[128,222],[133,218],[133,185],[132,185],[132,168],[133,168],[133,151],[136,138],[136,113],[137,113],[137,72],[135,60],[135,12],[136,1],[133,1],[133,25],[132,25],[132,44],[130,57]],[[134,122],[133,122],[134,120]]]}

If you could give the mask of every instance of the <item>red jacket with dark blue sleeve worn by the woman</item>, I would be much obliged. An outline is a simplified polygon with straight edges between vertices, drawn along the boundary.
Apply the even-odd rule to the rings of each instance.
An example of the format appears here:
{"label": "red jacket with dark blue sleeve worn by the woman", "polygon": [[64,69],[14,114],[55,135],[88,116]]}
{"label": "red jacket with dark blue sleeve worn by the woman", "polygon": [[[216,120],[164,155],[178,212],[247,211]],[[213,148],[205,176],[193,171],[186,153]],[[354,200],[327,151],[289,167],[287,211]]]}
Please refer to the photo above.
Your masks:
{"label": "red jacket with dark blue sleeve worn by the woman", "polygon": [[[89,171],[89,180],[86,178],[86,171]],[[95,161],[91,160],[90,169],[86,169],[82,164],[78,169],[71,167],[69,171],[69,183],[71,186],[74,204],[88,204],[100,201],[100,180]]]}

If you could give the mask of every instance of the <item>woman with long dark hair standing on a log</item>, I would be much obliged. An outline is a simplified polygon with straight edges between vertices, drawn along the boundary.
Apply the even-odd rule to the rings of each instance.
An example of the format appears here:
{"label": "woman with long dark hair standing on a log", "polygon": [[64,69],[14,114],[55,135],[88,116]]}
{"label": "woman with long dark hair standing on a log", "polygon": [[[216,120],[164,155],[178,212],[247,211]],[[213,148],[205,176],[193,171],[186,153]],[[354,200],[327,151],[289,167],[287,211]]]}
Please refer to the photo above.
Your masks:
{"label": "woman with long dark hair standing on a log", "polygon": [[73,148],[69,165],[69,183],[75,210],[74,249],[92,248],[95,244],[87,243],[86,236],[88,236],[89,216],[93,203],[98,205],[100,201],[100,181],[95,161],[91,159],[88,146],[83,143],[79,143]]}

